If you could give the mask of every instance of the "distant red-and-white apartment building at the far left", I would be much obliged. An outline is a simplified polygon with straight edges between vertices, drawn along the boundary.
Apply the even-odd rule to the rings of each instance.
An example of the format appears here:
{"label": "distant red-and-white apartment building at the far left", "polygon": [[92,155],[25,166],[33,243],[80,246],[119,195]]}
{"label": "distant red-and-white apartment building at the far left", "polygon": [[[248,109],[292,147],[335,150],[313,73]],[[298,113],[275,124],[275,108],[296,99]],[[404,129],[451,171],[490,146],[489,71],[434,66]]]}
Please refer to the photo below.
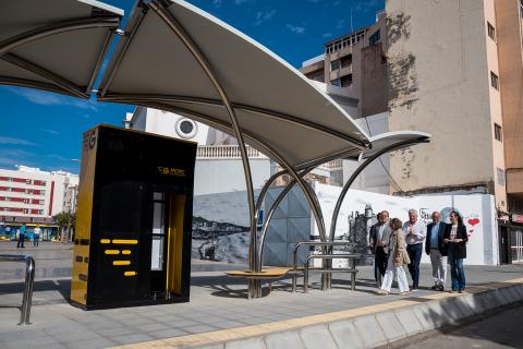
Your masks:
{"label": "distant red-and-white apartment building at the far left", "polygon": [[19,166],[0,169],[0,221],[52,222],[58,213],[76,209],[78,176]]}

